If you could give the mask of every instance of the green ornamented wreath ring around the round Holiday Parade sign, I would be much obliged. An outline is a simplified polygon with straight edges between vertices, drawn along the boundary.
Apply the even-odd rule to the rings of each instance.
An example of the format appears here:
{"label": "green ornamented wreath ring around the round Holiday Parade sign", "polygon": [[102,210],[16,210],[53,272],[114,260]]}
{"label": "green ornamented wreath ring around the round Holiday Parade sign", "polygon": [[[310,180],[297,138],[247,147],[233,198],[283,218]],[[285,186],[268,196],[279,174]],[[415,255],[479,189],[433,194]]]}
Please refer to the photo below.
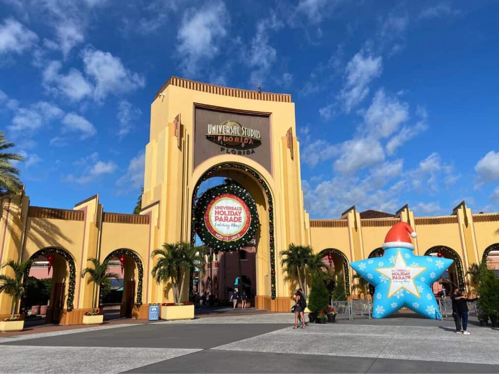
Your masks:
{"label": "green ornamented wreath ring around the round Holiday Parade sign", "polygon": [[[237,240],[220,240],[217,239],[212,233],[208,230],[205,224],[205,212],[208,208],[210,202],[217,196],[220,196],[224,193],[231,193],[239,198],[241,198],[248,208],[250,209],[251,222],[248,231]],[[260,225],[260,221],[258,219],[258,212],[256,211],[256,203],[254,202],[253,197],[248,193],[248,191],[241,186],[239,183],[234,181],[226,180],[224,184],[216,187],[212,187],[207,189],[201,197],[198,199],[196,203],[196,209],[193,217],[194,221],[194,230],[199,235],[201,240],[205,245],[224,252],[235,251],[242,247],[244,247],[248,242],[253,238],[256,233],[258,226]]]}

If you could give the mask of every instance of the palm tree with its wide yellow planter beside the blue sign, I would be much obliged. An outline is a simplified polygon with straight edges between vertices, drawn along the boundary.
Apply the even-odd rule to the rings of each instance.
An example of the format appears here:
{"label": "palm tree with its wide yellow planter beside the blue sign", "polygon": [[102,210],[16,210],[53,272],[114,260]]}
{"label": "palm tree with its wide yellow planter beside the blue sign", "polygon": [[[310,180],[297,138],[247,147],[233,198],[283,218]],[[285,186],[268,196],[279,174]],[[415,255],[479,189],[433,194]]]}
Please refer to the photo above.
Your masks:
{"label": "palm tree with its wide yellow planter beside the blue sign", "polygon": [[[205,266],[204,247],[192,247],[186,242],[165,243],[163,248],[155,249],[151,257],[158,256],[151,274],[156,283],[170,283],[173,289],[174,303],[161,306],[161,319],[185,320],[194,318],[194,304],[182,302],[185,284],[189,282],[191,268]],[[186,282],[187,278],[187,282]],[[165,285],[166,289],[166,285]]]}

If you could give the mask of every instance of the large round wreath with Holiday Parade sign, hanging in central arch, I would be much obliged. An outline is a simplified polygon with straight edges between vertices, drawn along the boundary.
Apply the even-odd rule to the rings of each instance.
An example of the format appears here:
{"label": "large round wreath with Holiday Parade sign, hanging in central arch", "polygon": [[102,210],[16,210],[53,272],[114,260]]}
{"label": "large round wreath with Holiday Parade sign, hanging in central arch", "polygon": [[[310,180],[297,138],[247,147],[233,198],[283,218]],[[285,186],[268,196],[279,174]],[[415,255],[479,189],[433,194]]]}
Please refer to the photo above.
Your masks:
{"label": "large round wreath with Holiday Parade sign, hanging in central arch", "polygon": [[[220,203],[222,200],[229,200]],[[225,223],[231,225],[234,219],[239,218],[239,230],[237,233],[225,234],[217,230],[214,225],[214,208],[223,206],[227,214],[220,218],[225,218]],[[227,209],[227,212],[225,211]],[[232,210],[238,211],[233,213]],[[230,215],[234,214],[234,215]],[[260,224],[256,204],[253,197],[240,184],[226,180],[222,185],[207,189],[197,200],[194,211],[194,227],[205,245],[221,251],[235,251],[245,246],[254,236]]]}

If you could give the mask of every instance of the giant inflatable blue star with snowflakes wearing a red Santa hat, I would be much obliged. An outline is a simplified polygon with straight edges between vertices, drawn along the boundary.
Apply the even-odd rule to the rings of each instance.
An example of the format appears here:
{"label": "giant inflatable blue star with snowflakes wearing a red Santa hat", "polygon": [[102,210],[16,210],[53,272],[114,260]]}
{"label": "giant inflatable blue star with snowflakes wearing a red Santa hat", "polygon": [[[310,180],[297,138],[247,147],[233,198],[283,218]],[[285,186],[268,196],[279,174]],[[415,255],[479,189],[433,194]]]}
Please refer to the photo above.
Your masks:
{"label": "giant inflatable blue star with snowflakes wearing a red Santa hat", "polygon": [[[415,236],[404,222],[397,223],[393,228],[401,224],[404,229],[407,226],[407,230]],[[383,245],[385,253],[382,257],[350,263],[362,278],[375,286],[372,316],[384,318],[407,307],[427,318],[442,319],[431,284],[452,265],[453,260],[414,255],[414,246],[407,231],[407,238],[403,237],[402,240],[390,240],[389,235],[390,232]]]}

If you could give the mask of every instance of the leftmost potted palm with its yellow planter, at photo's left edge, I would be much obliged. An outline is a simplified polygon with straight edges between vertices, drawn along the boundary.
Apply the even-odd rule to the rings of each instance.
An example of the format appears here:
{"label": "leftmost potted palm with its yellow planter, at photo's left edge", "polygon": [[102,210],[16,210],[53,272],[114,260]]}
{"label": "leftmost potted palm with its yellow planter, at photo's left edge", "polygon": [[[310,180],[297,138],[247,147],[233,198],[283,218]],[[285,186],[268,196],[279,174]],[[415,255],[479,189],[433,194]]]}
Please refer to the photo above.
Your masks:
{"label": "leftmost potted palm with its yellow planter, at photo's left edge", "polygon": [[26,292],[27,284],[23,282],[23,277],[31,260],[21,263],[16,263],[14,260],[4,262],[1,268],[9,267],[12,269],[14,276],[10,277],[6,274],[0,275],[0,293],[4,292],[12,297],[12,309],[10,317],[5,318],[0,322],[0,331],[21,331],[24,328],[24,321],[15,315],[17,302]]}

